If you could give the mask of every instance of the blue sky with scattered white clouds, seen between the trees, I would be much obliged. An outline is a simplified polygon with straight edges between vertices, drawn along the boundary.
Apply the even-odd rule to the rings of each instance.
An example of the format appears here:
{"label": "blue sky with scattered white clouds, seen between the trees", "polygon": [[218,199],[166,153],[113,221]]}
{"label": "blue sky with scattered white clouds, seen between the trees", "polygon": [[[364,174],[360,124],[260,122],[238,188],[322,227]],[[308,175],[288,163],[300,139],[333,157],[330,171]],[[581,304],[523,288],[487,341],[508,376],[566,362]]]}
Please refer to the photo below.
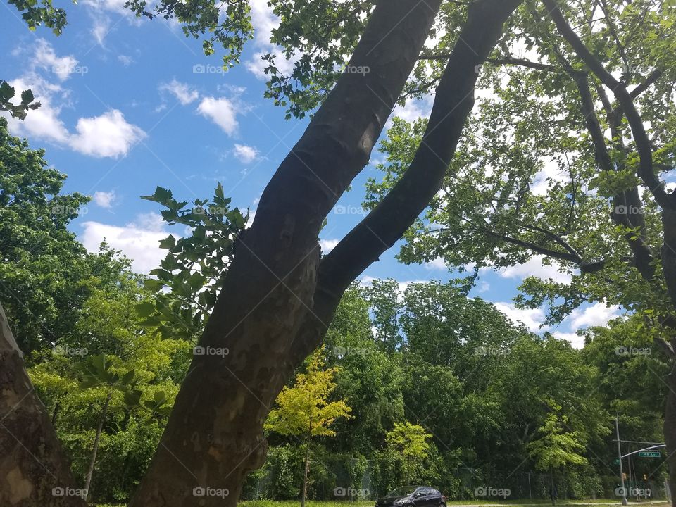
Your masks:
{"label": "blue sky with scattered white clouds, seen between the trees", "polygon": [[[301,136],[306,121],[284,120],[284,111],[263,98],[260,55],[277,51],[269,44],[275,18],[266,0],[252,0],[257,29],[242,63],[224,73],[218,51],[206,57],[201,44],[186,39],[165,20],[136,20],[124,0],[63,2],[68,25],[60,37],[27,29],[14,6],[0,7],[0,77],[17,89],[32,88],[42,107],[27,120],[10,120],[13,134],[44,147],[46,159],[68,174],[66,192],[92,196],[71,229],[89,249],[105,238],[147,272],[163,257],[159,239],[182,230],[165,227],[158,207],[139,196],[157,185],[184,200],[211,196],[222,182],[240,208],[255,212],[280,161]],[[57,4],[57,6],[59,6]],[[280,58],[277,58],[280,61]],[[429,101],[395,111],[407,119],[424,114]],[[330,249],[358,220],[373,163],[329,215],[322,233]],[[392,277],[412,281],[449,280],[443,262],[403,265],[397,247],[364,273],[364,280]],[[475,295],[493,301],[513,320],[539,330],[543,310],[520,311],[511,299],[528,275],[561,278],[555,268],[534,258],[525,265],[482,274]],[[603,304],[586,306],[556,332],[579,344],[575,330],[605,323],[618,315]],[[550,331],[554,331],[549,329]]]}

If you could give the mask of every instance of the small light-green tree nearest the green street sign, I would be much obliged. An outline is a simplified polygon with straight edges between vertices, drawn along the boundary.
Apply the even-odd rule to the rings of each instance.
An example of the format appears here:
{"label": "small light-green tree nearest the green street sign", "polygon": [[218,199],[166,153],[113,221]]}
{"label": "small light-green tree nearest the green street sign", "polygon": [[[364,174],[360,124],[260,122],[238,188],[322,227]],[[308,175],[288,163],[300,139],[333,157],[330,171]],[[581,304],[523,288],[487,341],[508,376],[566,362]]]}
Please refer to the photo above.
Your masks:
{"label": "small light-green tree nearest the green street sign", "polygon": [[526,449],[528,455],[534,459],[537,470],[550,472],[551,503],[555,505],[554,472],[568,465],[586,465],[587,458],[577,453],[577,451],[584,450],[584,445],[580,443],[579,433],[563,431],[563,428],[568,425],[568,418],[565,415],[559,417],[558,411],[561,411],[561,407],[552,405],[552,408],[553,411],[547,415],[544,424],[537,430],[542,437],[530,442]]}

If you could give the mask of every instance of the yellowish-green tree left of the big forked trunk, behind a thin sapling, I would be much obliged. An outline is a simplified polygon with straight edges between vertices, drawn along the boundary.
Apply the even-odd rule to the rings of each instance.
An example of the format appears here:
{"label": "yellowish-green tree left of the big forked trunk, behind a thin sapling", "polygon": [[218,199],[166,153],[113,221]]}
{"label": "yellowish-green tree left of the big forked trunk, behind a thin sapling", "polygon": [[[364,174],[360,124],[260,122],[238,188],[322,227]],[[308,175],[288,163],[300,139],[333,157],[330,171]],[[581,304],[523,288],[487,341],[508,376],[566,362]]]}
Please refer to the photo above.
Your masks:
{"label": "yellowish-green tree left of the big forked trunk, behind a thin sapling", "polygon": [[28,370],[92,501],[112,492],[116,501],[128,499],[120,492],[135,477],[125,478],[113,463],[127,463],[128,471],[149,459],[149,446],[130,442],[145,434],[150,446],[157,444],[192,350],[188,342],[162,340],[140,325],[134,308],[151,293],[128,261],[122,265],[117,283],[92,287],[73,330],[54,348],[35,353]]}

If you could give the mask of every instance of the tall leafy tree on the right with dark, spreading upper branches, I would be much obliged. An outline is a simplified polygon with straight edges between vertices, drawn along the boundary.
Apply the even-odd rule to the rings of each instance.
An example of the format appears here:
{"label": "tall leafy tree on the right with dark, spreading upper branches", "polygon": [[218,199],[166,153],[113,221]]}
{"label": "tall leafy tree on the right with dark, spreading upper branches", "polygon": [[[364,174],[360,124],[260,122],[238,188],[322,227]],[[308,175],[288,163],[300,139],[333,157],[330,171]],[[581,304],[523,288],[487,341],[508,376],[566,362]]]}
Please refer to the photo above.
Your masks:
{"label": "tall leafy tree on the right with dark, spreading upper branches", "polygon": [[[482,268],[542,260],[564,276],[527,278],[520,306],[547,304],[548,324],[586,301],[649,311],[655,344],[673,364],[676,194],[667,183],[676,111],[665,97],[676,82],[675,8],[542,4],[520,11],[530,59],[514,54],[513,40],[489,58],[483,84],[494,93],[470,118],[442,192],[406,234],[400,258],[473,265],[470,279]],[[395,123],[370,204],[401,181],[426,125]],[[665,381],[665,439],[676,456],[675,375]]]}

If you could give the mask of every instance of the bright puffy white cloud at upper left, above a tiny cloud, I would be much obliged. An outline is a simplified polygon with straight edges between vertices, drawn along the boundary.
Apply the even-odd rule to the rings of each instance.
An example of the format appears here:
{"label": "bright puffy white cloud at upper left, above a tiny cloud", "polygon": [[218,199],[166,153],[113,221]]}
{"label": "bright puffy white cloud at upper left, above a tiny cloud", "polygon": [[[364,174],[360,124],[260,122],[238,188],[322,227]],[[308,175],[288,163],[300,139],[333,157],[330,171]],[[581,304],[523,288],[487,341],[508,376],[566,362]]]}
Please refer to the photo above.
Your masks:
{"label": "bright puffy white cloud at upper left, above a tiny cloud", "polygon": [[77,134],[70,138],[70,146],[85,155],[95,157],[125,156],[146,133],[127,123],[124,115],[111,109],[94,118],[80,118],[75,126]]}

